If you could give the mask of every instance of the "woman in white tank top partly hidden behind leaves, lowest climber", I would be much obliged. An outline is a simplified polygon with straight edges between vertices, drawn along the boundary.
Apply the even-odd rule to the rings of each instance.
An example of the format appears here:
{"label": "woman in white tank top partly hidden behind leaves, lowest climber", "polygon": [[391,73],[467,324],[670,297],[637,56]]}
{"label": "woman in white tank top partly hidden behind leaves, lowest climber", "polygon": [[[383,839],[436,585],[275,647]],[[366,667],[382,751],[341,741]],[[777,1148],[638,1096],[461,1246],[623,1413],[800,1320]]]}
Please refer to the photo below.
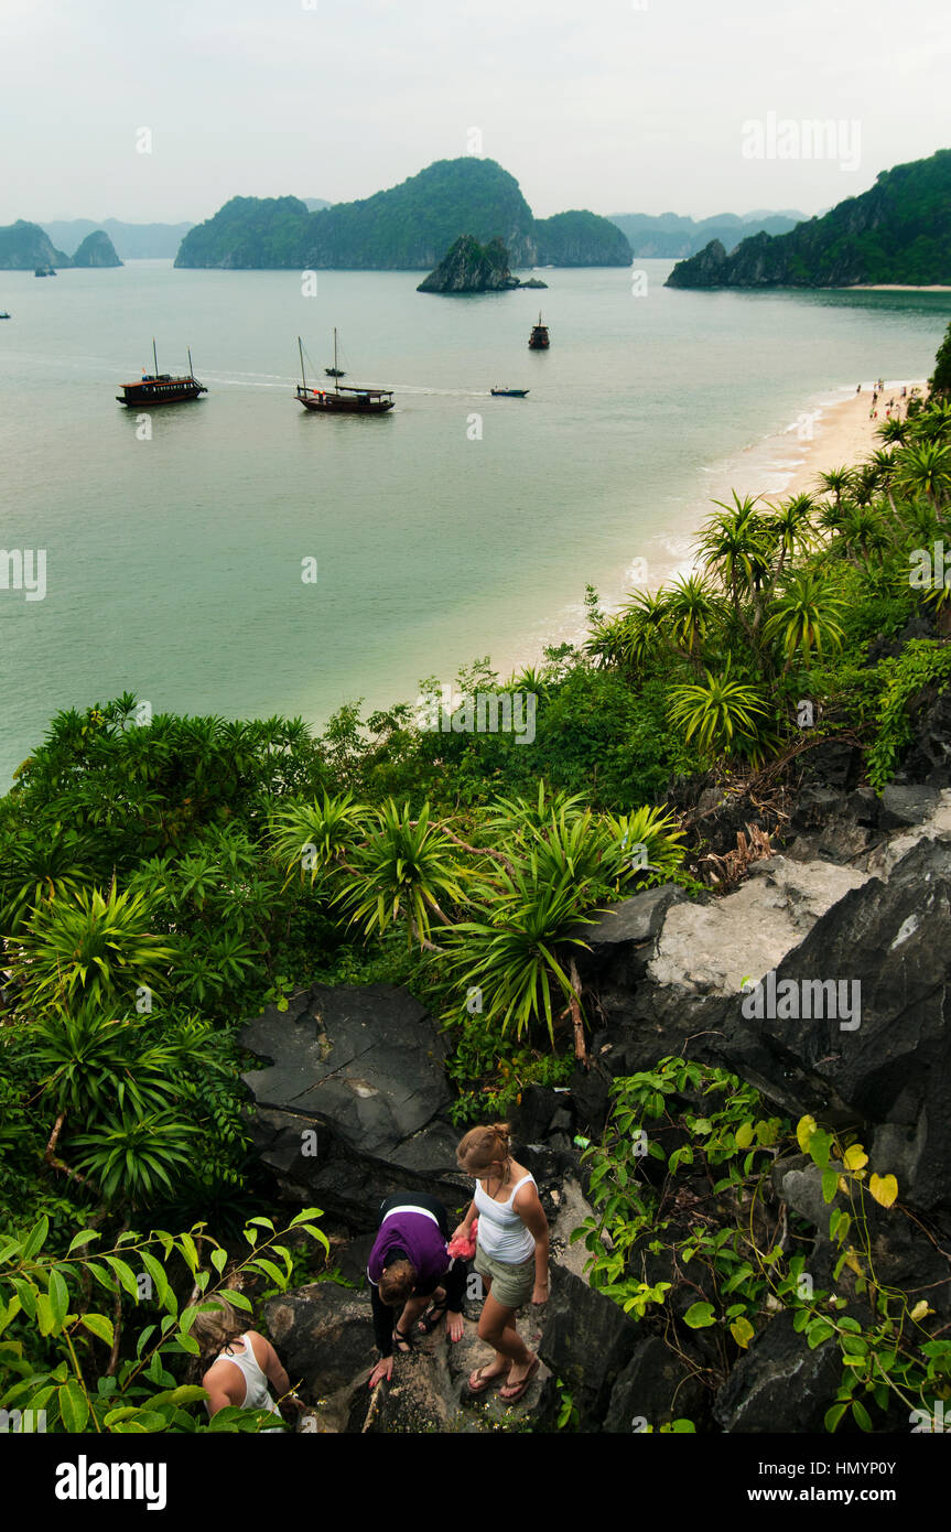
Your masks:
{"label": "woman in white tank top partly hidden behind leaves, lowest climber", "polygon": [[208,1390],[207,1409],[216,1416],[228,1405],[239,1409],[268,1409],[280,1425],[268,1431],[283,1431],[280,1409],[271,1399],[268,1383],[274,1385],[279,1399],[288,1399],[296,1409],[305,1405],[291,1394],[291,1380],[270,1340],[257,1330],[242,1330],[237,1311],[224,1298],[211,1299],[216,1307],[196,1314],[191,1334],[211,1363],[202,1377]]}

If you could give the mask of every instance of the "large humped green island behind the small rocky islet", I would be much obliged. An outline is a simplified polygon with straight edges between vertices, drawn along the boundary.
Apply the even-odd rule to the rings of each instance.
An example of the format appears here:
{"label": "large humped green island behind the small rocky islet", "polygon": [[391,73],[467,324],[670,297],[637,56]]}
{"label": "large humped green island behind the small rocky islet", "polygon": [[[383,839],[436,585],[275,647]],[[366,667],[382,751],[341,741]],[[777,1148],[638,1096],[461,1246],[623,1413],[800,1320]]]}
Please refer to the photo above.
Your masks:
{"label": "large humped green island behind the small rocky islet", "polygon": [[440,159],[389,192],[309,211],[300,198],[231,198],[182,239],[176,267],[430,271],[466,231],[511,265],[623,267],[631,247],[594,213],[536,219],[493,159]]}

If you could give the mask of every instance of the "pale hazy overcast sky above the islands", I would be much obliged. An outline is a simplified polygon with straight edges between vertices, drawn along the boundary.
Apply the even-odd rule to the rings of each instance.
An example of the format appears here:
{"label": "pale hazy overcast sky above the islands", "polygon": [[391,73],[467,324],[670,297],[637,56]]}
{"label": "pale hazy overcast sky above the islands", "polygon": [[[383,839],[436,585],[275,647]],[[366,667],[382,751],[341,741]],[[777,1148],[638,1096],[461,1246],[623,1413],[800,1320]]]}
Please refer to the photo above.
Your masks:
{"label": "pale hazy overcast sky above the islands", "polygon": [[[539,216],[813,213],[951,144],[949,17],[946,0],[0,0],[0,222],[349,201],[478,147],[472,129]],[[776,136],[752,156],[769,113],[793,124],[784,158]],[[796,152],[812,119],[836,124],[832,158]]]}

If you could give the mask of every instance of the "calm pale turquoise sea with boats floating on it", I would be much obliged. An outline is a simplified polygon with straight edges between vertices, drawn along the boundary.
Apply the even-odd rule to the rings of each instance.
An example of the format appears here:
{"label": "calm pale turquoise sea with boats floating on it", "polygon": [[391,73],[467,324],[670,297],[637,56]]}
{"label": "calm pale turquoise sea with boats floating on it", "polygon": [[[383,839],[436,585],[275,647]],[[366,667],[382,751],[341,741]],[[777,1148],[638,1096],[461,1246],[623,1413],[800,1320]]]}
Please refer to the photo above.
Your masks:
{"label": "calm pale turquoise sea with boats floating on it", "polygon": [[[677,567],[744,447],[859,380],[926,377],[949,317],[939,293],[675,293],[671,262],[637,270],[642,296],[626,270],[559,270],[467,299],[418,273],[322,271],[312,297],[300,273],[159,260],[0,273],[0,548],[46,552],[43,601],[0,588],[0,789],[57,709],[126,689],[320,725],[476,656],[507,673],[577,627],[585,581],[613,601],[632,559],[651,584]],[[539,303],[548,352],[527,349]],[[334,325],[391,415],[296,403],[297,336],[315,377]],[[152,336],[162,371],[190,345],[210,392],[141,423],[115,394]]]}

